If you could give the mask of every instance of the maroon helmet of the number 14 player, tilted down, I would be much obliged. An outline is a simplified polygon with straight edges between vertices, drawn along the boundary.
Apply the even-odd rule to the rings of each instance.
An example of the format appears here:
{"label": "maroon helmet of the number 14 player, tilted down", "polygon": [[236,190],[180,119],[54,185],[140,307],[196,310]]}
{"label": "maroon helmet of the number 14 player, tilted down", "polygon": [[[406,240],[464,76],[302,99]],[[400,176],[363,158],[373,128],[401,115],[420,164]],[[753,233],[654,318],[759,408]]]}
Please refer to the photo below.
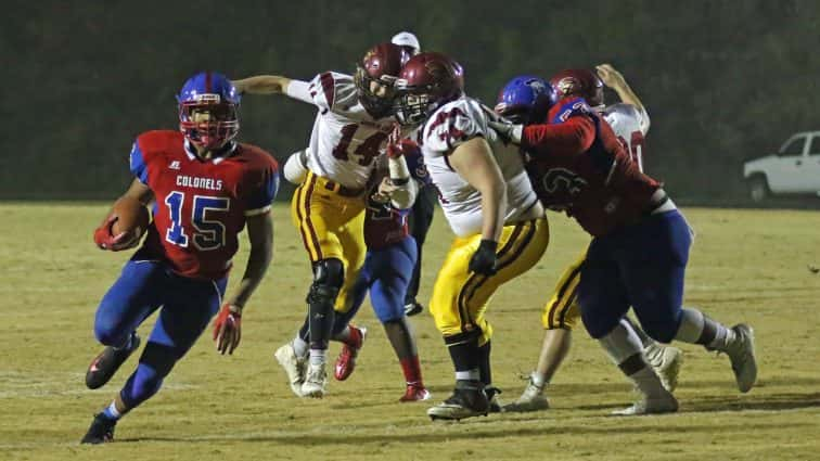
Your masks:
{"label": "maroon helmet of the number 14 player, tilted down", "polygon": [[359,102],[373,118],[389,115],[395,95],[394,84],[410,55],[393,43],[379,43],[368,50],[356,65]]}

